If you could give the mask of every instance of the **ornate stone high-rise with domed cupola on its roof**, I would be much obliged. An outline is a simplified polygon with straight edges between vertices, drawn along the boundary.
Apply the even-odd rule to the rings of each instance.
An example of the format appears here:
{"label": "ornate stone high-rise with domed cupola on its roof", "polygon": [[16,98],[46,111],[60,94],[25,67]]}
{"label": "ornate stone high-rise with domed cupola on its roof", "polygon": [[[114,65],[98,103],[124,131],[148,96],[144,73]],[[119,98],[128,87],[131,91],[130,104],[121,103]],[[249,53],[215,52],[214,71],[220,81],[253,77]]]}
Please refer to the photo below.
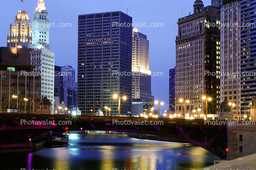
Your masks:
{"label": "ornate stone high-rise with domed cupola on its roof", "polygon": [[[220,22],[220,9],[203,7],[201,0],[194,3],[194,14],[178,20],[176,37],[176,112],[192,114],[201,108],[206,113],[202,96],[211,97],[208,114],[218,114],[220,105],[220,30],[212,24]],[[213,73],[213,74],[211,74]]]}

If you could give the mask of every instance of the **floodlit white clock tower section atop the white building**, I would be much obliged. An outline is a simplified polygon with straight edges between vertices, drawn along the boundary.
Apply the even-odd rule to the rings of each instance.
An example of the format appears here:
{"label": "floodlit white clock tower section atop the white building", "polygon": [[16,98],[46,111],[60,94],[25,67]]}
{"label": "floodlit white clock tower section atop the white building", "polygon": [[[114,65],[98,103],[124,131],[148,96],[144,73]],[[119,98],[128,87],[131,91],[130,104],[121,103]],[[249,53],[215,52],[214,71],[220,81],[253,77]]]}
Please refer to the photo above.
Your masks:
{"label": "floodlit white clock tower section atop the white building", "polygon": [[32,21],[32,27],[32,45],[49,46],[49,18],[44,0],[39,0],[37,2],[37,7],[34,11]]}

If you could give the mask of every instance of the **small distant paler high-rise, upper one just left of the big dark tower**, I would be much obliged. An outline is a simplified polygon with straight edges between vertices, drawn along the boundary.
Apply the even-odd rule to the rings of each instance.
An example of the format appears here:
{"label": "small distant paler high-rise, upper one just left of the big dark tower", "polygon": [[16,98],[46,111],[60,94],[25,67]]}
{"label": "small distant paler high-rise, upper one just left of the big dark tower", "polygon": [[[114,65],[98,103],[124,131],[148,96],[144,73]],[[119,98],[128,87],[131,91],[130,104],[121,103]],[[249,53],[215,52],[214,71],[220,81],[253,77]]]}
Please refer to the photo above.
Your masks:
{"label": "small distant paler high-rise, upper one just left of the big dark tower", "polygon": [[65,65],[61,67],[61,73],[63,76],[63,86],[75,84],[75,68],[70,65]]}

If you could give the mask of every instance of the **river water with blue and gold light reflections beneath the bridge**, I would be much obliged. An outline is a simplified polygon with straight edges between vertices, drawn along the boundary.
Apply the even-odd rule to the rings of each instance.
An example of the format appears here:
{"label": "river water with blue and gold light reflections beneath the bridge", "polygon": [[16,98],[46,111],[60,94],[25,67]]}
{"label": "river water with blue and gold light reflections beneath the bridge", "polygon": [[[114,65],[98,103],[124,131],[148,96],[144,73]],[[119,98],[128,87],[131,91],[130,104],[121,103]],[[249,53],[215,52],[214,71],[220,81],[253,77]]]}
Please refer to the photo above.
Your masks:
{"label": "river water with blue and gold light reflections beneath the bridge", "polygon": [[[69,146],[0,155],[2,169],[198,169],[219,160],[201,147],[126,135],[70,134]],[[15,159],[13,163],[12,160]],[[1,169],[1,168],[0,168]]]}

